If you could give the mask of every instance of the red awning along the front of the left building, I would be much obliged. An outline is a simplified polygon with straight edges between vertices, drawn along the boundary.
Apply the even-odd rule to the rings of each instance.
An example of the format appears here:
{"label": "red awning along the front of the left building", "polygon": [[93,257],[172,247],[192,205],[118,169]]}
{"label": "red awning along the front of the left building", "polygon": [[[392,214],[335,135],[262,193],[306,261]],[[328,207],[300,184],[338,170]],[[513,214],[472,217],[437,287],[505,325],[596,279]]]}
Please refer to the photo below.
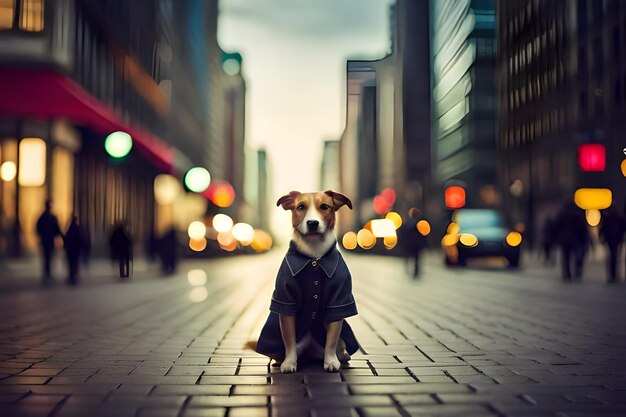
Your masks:
{"label": "red awning along the front of the left building", "polygon": [[1,68],[0,116],[64,118],[102,134],[121,130],[157,168],[170,172],[173,167],[172,147],[147,129],[126,125],[80,84],[52,70]]}

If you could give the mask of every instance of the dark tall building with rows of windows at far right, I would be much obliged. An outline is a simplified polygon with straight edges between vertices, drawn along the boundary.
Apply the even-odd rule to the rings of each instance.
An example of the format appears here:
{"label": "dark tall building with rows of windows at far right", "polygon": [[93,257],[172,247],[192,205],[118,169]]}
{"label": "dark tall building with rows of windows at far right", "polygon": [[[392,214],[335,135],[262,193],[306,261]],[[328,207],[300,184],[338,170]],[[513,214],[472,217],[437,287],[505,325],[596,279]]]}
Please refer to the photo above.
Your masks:
{"label": "dark tall building with rows of windows at far right", "polygon": [[[625,17],[620,1],[498,3],[501,188],[531,238],[577,188],[623,204]],[[604,170],[578,166],[590,143],[605,148]]]}

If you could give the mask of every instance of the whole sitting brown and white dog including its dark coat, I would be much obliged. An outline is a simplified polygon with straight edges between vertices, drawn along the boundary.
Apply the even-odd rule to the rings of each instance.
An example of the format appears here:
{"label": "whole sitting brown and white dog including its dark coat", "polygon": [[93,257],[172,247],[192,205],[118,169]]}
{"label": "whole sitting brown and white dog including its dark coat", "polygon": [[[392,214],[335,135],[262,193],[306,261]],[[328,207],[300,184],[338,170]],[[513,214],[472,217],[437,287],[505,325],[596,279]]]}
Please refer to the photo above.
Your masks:
{"label": "whole sitting brown and white dog including its dark coat", "polygon": [[347,317],[357,314],[352,278],[337,249],[335,213],[352,202],[332,190],[292,191],[277,206],[291,210],[293,238],[276,278],[257,352],[281,361],[283,373],[296,372],[298,357],[323,359],[337,372],[358,343]]}

